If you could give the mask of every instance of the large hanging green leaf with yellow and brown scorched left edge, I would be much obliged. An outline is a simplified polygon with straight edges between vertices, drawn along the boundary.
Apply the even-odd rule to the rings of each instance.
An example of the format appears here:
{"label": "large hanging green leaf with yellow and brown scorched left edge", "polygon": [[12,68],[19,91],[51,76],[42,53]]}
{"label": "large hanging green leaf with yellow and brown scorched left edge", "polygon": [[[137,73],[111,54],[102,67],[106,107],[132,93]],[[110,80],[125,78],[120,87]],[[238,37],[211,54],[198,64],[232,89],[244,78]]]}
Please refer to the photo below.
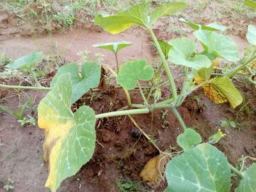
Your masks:
{"label": "large hanging green leaf with yellow and brown scorched left edge", "polygon": [[71,95],[70,74],[63,74],[38,106],[38,126],[45,129],[44,157],[50,163],[45,186],[54,192],[90,160],[95,148],[95,113],[83,106],[73,114]]}

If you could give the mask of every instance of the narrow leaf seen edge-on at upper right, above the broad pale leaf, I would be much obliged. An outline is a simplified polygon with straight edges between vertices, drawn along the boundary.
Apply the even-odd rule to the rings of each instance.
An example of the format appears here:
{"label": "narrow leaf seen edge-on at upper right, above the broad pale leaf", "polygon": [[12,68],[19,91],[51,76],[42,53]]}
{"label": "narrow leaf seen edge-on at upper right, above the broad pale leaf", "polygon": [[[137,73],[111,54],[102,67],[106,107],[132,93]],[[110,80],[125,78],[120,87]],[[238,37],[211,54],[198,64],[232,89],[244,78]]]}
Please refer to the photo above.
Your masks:
{"label": "narrow leaf seen edge-on at upper right, above the broad pale leaf", "polygon": [[190,28],[195,29],[195,30],[206,30],[206,31],[225,31],[227,28],[225,26],[221,26],[218,24],[207,24],[207,25],[202,25],[202,24],[195,24],[193,22],[189,22],[186,19],[180,18],[179,19],[181,22],[184,22],[187,24]]}

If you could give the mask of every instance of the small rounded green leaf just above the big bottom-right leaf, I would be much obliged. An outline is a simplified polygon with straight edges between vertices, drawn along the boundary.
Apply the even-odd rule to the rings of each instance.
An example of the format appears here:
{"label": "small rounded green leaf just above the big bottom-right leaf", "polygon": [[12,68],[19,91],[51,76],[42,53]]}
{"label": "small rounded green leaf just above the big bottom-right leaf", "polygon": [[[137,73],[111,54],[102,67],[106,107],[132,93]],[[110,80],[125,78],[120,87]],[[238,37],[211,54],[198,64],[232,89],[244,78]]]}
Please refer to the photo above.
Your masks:
{"label": "small rounded green leaf just above the big bottom-right leaf", "polygon": [[198,143],[202,142],[202,138],[200,134],[198,134],[193,129],[185,129],[184,133],[180,134],[177,138],[177,143],[180,147],[184,149],[184,151],[188,150],[189,148],[194,147]]}

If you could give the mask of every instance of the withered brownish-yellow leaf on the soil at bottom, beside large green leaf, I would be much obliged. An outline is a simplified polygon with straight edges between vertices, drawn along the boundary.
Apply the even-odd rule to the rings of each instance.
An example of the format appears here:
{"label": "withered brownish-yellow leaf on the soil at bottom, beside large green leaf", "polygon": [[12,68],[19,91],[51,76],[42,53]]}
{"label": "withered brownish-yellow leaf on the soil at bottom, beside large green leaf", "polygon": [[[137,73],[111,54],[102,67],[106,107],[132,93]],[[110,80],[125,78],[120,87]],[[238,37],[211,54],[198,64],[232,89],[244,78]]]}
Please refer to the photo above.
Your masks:
{"label": "withered brownish-yellow leaf on the soil at bottom, beside large green leaf", "polygon": [[163,180],[163,173],[166,163],[170,159],[166,154],[159,154],[148,161],[140,173],[143,180],[157,184]]}

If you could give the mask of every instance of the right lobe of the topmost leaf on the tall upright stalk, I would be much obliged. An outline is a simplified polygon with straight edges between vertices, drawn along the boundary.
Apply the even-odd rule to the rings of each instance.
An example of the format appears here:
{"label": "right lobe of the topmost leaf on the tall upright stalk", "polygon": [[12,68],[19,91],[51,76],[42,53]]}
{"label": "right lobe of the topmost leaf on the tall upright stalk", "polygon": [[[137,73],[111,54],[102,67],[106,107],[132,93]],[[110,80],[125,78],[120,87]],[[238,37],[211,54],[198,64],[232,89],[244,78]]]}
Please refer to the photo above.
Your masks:
{"label": "right lobe of the topmost leaf on the tall upright stalk", "polygon": [[159,19],[159,17],[163,17],[164,15],[174,15],[175,13],[183,10],[186,7],[186,3],[182,2],[174,2],[163,4],[154,10],[150,17],[150,24],[152,24],[155,20]]}

